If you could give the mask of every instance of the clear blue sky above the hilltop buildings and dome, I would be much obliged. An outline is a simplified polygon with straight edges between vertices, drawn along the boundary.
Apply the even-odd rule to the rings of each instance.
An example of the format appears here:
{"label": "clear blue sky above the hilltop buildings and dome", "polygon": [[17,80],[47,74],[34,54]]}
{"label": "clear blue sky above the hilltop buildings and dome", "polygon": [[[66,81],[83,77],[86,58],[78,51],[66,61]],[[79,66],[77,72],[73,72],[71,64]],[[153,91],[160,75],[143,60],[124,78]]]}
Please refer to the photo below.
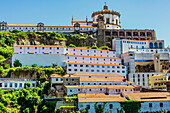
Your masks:
{"label": "clear blue sky above the hilltop buildings and dome", "polygon": [[1,0],[0,21],[9,24],[68,25],[71,18],[91,19],[93,11],[120,12],[124,29],[155,29],[157,39],[170,45],[170,0]]}

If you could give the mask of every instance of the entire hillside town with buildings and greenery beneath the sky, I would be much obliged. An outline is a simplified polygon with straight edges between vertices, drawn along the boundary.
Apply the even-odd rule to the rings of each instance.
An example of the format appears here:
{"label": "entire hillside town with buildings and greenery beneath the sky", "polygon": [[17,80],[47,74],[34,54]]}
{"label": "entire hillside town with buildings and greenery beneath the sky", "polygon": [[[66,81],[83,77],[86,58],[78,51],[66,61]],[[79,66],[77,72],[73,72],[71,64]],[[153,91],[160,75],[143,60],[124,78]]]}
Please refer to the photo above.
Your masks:
{"label": "entire hillside town with buildings and greenery beneath the sky", "polygon": [[120,16],[105,4],[71,25],[1,21],[0,112],[169,113],[170,48]]}

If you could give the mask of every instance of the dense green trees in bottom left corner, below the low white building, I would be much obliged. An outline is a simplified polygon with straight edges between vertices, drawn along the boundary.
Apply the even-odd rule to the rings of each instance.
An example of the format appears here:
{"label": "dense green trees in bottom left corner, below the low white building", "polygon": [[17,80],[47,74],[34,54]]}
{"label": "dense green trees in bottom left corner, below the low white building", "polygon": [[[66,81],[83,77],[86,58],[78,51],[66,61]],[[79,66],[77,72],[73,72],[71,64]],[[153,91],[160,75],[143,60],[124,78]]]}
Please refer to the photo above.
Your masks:
{"label": "dense green trees in bottom left corner, below the low white building", "polygon": [[45,82],[40,87],[26,89],[0,89],[0,112],[21,112],[21,113],[53,113],[56,102],[43,101],[42,95],[47,93],[49,83]]}

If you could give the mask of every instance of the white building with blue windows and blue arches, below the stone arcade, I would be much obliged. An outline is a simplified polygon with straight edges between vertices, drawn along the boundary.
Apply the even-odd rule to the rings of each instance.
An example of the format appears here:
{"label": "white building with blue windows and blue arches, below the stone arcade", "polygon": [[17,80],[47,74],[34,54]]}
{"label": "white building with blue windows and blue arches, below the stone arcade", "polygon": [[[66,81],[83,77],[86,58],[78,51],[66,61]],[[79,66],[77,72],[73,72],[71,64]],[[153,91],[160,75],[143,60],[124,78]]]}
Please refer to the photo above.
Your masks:
{"label": "white building with blue windows and blue arches, below the stone arcade", "polygon": [[[115,38],[112,40],[112,49],[116,51],[116,55],[119,57],[129,51],[136,52],[154,52],[156,50],[164,52],[163,40],[128,40]],[[152,50],[152,51],[151,51]],[[165,51],[168,51],[165,49]]]}

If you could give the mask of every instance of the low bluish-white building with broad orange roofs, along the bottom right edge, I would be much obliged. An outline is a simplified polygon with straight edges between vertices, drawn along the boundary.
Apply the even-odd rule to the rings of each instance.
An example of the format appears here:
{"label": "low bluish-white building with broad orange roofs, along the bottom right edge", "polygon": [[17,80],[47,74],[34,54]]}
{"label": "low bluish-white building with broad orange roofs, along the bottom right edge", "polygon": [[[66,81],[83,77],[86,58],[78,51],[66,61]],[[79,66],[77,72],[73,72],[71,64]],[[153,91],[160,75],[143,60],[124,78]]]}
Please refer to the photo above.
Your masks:
{"label": "low bluish-white building with broad orange roofs, along the bottom right edge", "polygon": [[[88,109],[90,113],[96,113],[95,106],[103,108],[104,113],[116,113],[122,108],[121,101],[141,101],[139,113],[170,111],[170,97],[168,92],[144,92],[144,93],[122,93],[121,95],[100,94],[78,94],[79,110]],[[99,99],[100,98],[100,99]],[[130,102],[129,102],[130,103]]]}

